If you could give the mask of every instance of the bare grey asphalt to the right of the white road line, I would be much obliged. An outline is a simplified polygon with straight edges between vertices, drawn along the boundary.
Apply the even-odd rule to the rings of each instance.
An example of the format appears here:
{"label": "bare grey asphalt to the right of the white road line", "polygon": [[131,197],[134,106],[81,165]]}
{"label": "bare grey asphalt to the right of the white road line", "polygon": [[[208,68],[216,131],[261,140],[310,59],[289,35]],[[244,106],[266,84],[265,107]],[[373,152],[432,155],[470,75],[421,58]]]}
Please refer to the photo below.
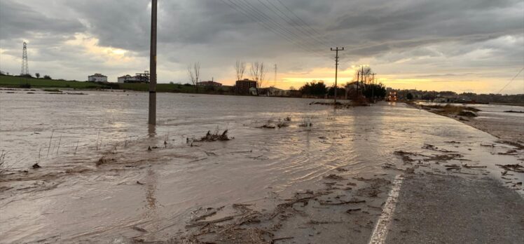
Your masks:
{"label": "bare grey asphalt to the right of the white road line", "polygon": [[386,243],[524,243],[524,198],[494,179],[408,175]]}

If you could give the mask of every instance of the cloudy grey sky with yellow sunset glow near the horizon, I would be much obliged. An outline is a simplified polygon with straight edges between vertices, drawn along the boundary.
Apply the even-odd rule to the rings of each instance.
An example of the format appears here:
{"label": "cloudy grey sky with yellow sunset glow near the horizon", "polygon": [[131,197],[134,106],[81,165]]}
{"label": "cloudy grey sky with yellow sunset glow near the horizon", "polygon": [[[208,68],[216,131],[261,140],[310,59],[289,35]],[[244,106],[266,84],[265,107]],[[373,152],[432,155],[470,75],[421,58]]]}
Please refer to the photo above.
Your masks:
{"label": "cloudy grey sky with yellow sunset glow near the horizon", "polygon": [[[371,66],[393,88],[498,93],[524,67],[524,0],[159,0],[159,82],[235,80],[264,62],[266,86],[350,81]],[[149,69],[149,0],[0,0],[0,69],[109,81]],[[274,81],[274,65],[277,81]],[[524,93],[524,72],[502,93]]]}

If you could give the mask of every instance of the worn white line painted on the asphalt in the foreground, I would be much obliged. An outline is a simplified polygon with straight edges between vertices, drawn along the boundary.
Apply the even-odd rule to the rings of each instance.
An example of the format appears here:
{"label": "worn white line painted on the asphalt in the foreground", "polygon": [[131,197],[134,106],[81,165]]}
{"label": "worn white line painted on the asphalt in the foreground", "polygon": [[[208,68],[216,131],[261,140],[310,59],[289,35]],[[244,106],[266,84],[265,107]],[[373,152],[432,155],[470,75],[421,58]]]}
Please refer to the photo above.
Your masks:
{"label": "worn white line painted on the asphalt in the foreground", "polygon": [[371,234],[369,244],[383,244],[386,242],[387,227],[389,226],[393,213],[395,212],[395,206],[397,204],[397,198],[399,198],[402,180],[404,180],[403,175],[397,175],[393,180],[393,188],[389,191],[389,196],[387,196],[384,208],[382,208],[382,214],[378,218],[373,234]]}

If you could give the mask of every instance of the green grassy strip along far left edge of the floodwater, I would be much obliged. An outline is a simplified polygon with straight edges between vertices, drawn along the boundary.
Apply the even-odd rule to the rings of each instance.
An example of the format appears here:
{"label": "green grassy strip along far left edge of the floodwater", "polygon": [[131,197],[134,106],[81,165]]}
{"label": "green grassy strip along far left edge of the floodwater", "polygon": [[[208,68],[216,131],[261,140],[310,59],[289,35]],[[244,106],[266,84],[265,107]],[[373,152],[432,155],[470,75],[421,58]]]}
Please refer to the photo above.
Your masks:
{"label": "green grassy strip along far left edge of the floodwater", "polygon": [[[117,90],[136,90],[148,91],[148,83],[99,83],[87,81],[58,81],[49,79],[22,78],[18,76],[0,76],[0,87],[4,88],[70,88],[79,90],[97,89],[117,89]],[[181,84],[158,83],[156,86],[158,93],[196,93],[195,86]],[[221,88],[199,87],[199,93],[209,94],[230,94],[230,86]]]}

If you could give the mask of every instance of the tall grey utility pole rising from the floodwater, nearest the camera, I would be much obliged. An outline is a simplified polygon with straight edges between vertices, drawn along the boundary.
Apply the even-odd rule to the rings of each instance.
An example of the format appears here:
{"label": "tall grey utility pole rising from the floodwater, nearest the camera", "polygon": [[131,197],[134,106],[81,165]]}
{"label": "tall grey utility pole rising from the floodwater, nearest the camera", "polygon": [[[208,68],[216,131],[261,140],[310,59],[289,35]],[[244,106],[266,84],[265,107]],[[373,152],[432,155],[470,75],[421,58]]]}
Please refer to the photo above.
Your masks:
{"label": "tall grey utility pole rising from the floodwater, nearest the camera", "polygon": [[151,0],[151,52],[149,56],[149,124],[156,125],[156,7]]}

